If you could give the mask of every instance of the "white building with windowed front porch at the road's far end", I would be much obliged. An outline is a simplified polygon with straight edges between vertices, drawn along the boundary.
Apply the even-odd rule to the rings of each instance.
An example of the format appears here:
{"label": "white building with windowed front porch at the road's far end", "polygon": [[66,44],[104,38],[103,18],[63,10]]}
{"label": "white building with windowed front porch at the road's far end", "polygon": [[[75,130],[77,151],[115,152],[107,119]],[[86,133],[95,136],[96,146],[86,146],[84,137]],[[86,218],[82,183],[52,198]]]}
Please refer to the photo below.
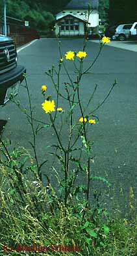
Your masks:
{"label": "white building with windowed front porch at the road's far end", "polygon": [[[91,6],[89,19],[88,4]],[[62,12],[56,14],[55,32],[60,36],[84,36],[87,19],[89,31],[96,34],[99,26],[98,0],[71,0]]]}

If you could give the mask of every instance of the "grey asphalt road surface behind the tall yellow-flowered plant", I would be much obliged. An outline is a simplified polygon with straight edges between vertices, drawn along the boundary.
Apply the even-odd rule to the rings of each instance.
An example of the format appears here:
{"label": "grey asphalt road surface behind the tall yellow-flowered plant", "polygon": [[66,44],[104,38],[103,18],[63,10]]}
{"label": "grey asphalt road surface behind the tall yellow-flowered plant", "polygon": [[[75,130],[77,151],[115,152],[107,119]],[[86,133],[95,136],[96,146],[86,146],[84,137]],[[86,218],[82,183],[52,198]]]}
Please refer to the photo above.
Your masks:
{"label": "grey asphalt road surface behind the tall yellow-flowered plant", "polygon": [[[62,53],[66,51],[81,51],[82,39],[62,39]],[[93,62],[99,51],[99,45],[88,42],[86,52],[88,57],[84,60],[85,68]],[[47,121],[47,116],[42,110],[43,102],[41,94],[42,84],[47,84],[48,93],[56,96],[49,77],[45,70],[52,64],[58,64],[58,45],[53,38],[40,39],[18,53],[19,64],[27,68],[27,80],[32,94],[32,106],[35,106],[34,114],[39,120]],[[75,79],[73,66],[67,62],[69,72]],[[116,47],[103,48],[97,62],[93,65],[90,73],[82,79],[82,100],[85,104],[89,94],[92,94],[95,84],[98,84],[97,92],[91,108],[101,102],[114,80],[118,84],[110,94],[106,103],[95,112],[99,122],[92,125],[91,138],[93,139],[94,163],[92,173],[106,177],[111,183],[113,190],[106,190],[104,203],[126,212],[128,209],[129,188],[132,186],[134,195],[137,196],[137,53]],[[67,81],[66,74],[62,71],[60,84]],[[63,86],[63,85],[62,85]],[[20,88],[16,97],[24,107],[28,106],[27,92]],[[63,105],[63,101],[60,102]],[[65,109],[67,106],[63,105]],[[79,117],[79,113],[77,114]],[[27,147],[31,150],[29,140],[32,138],[31,127],[23,114],[13,103],[8,103],[1,108],[0,118],[8,120],[3,138],[12,140],[12,147]],[[10,118],[10,119],[9,119]],[[38,135],[37,148],[40,160],[46,156],[45,145],[55,142],[56,137],[51,131],[42,130]],[[62,140],[66,140],[66,132],[62,133]],[[50,173],[50,160],[44,166],[43,172]],[[102,188],[101,183],[93,183],[94,188]],[[105,191],[105,187],[103,187]],[[117,210],[116,210],[117,209]]]}

